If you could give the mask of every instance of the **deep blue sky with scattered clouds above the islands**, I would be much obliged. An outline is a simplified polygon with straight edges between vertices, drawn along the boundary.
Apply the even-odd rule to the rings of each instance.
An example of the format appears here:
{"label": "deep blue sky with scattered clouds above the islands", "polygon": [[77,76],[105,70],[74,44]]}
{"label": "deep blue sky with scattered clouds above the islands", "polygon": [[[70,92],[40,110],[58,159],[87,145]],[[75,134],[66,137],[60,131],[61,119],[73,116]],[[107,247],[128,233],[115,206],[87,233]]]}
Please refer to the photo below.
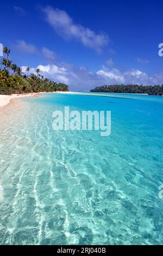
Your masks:
{"label": "deep blue sky with scattered clouds above the islands", "polygon": [[163,84],[162,1],[3,1],[0,43],[72,90]]}

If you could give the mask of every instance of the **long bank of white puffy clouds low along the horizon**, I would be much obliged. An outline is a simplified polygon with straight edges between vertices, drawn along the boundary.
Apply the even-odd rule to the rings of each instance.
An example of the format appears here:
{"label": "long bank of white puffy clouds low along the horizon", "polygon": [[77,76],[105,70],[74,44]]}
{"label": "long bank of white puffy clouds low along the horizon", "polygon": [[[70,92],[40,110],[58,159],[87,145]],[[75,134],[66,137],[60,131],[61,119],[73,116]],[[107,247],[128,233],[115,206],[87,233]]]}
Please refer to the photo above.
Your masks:
{"label": "long bank of white puffy clouds low along the horizon", "polygon": [[[118,69],[108,69],[105,66],[96,73],[90,72],[86,67],[76,67],[73,64],[58,63],[39,65],[40,73],[56,82],[64,82],[70,90],[90,90],[96,86],[111,84],[138,84],[154,85],[162,84],[163,74],[149,76],[140,70],[127,70],[121,72]],[[22,67],[26,73],[26,67]],[[32,68],[30,73],[34,73]]]}

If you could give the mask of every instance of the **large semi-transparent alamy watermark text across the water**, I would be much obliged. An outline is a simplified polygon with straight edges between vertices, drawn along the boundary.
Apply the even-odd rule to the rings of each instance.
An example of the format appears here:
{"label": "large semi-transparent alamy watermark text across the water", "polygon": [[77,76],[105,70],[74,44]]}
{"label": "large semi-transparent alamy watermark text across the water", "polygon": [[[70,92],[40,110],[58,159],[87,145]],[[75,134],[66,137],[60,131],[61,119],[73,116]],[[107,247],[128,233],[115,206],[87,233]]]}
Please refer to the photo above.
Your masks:
{"label": "large semi-transparent alamy watermark text across the water", "polygon": [[99,130],[101,136],[109,136],[111,133],[111,111],[70,111],[65,106],[64,111],[53,112],[54,130]]}

